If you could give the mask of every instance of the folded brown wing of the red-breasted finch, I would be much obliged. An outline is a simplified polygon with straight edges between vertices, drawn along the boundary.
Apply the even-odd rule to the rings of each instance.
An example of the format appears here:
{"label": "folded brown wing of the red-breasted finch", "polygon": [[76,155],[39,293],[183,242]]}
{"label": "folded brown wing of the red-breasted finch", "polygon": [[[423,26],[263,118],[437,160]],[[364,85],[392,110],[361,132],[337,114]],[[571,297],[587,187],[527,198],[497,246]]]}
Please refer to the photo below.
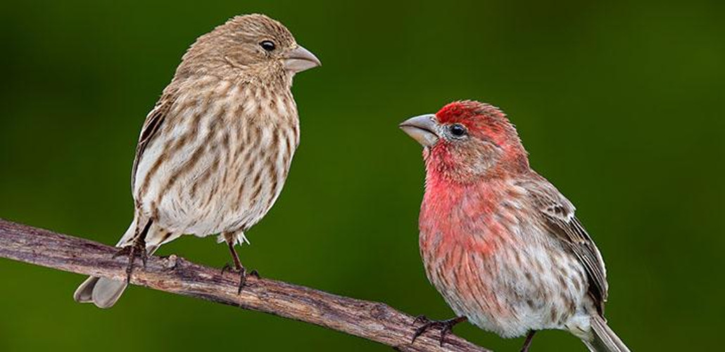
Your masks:
{"label": "folded brown wing of the red-breasted finch", "polygon": [[607,272],[597,246],[574,215],[576,208],[544,177],[535,175],[533,180],[524,183],[526,185],[522,185],[529,190],[552,235],[555,235],[565,248],[571,249],[587,271],[589,293],[595,299],[597,310],[603,316],[604,303],[607,301]]}

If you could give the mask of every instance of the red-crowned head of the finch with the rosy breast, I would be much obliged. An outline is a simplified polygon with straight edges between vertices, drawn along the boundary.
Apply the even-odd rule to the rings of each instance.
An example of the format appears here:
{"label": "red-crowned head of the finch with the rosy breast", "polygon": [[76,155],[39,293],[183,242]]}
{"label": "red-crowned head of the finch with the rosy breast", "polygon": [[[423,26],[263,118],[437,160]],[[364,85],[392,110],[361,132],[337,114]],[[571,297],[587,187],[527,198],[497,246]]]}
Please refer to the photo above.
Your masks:
{"label": "red-crowned head of the finch with the rosy breast", "polygon": [[529,169],[515,127],[489,104],[455,101],[436,114],[405,120],[400,128],[423,145],[429,175],[468,183]]}

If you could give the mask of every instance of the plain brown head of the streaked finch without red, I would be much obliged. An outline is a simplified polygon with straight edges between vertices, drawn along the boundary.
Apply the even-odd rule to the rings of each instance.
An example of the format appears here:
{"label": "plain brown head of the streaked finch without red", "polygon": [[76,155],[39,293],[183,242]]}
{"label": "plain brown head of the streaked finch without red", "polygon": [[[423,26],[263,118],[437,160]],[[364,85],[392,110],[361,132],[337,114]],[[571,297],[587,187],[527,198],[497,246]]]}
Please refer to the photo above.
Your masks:
{"label": "plain brown head of the streaked finch without red", "polygon": [[262,80],[291,77],[320,66],[280,22],[264,14],[236,16],[204,34],[186,51],[179,73],[250,76]]}

